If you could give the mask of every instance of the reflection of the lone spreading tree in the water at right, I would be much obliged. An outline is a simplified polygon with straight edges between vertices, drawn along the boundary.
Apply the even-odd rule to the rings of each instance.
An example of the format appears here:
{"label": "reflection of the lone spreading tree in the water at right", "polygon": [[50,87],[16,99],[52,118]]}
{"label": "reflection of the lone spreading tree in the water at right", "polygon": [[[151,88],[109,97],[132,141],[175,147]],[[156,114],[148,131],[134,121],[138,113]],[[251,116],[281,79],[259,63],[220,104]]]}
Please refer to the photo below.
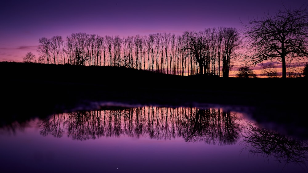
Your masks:
{"label": "reflection of the lone spreading tree in the water at right", "polygon": [[266,159],[274,157],[279,163],[296,163],[301,166],[308,161],[308,142],[278,134],[247,123],[241,144],[252,154],[260,154]]}

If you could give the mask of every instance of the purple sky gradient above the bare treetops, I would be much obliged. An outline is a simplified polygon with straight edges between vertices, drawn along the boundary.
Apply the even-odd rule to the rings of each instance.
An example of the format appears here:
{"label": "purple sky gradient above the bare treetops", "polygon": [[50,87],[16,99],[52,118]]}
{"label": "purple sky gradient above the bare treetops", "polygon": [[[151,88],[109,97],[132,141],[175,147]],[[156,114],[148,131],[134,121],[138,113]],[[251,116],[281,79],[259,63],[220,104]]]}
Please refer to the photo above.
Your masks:
{"label": "purple sky gradient above the bare treetops", "polygon": [[121,37],[209,27],[241,28],[249,18],[274,13],[283,4],[299,8],[306,0],[4,0],[0,6],[0,61],[22,61],[36,52],[39,38],[72,33]]}

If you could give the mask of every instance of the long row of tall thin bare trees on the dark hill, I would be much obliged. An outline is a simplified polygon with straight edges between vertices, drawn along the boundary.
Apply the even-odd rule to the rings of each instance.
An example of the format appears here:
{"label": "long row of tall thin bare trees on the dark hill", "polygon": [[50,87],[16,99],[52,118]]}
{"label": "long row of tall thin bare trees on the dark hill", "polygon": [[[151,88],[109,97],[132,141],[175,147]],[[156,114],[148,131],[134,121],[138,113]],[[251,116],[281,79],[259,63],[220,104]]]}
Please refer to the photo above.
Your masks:
{"label": "long row of tall thin bare trees on the dark hill", "polygon": [[[183,35],[99,36],[73,33],[65,39],[39,39],[39,63],[126,66],[166,74],[229,74],[230,60],[240,44],[235,28],[208,28]],[[222,68],[221,68],[222,67]]]}

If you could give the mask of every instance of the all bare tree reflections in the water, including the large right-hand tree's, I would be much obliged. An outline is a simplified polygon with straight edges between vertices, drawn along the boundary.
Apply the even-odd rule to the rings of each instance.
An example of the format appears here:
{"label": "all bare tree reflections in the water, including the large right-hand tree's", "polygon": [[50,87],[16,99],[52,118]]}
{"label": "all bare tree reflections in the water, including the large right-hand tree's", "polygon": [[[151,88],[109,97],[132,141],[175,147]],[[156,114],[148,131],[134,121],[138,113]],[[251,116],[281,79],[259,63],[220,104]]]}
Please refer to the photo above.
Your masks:
{"label": "all bare tree reflections in the water, including the large right-hand tree's", "polygon": [[[296,163],[305,167],[308,161],[308,142],[258,127],[240,113],[221,108],[196,107],[134,107],[101,111],[76,111],[55,114],[37,121],[39,134],[56,138],[67,136],[85,141],[102,137],[149,138],[211,145],[240,144],[242,151],[274,158],[285,165]],[[2,131],[14,132],[26,128],[12,124]]]}

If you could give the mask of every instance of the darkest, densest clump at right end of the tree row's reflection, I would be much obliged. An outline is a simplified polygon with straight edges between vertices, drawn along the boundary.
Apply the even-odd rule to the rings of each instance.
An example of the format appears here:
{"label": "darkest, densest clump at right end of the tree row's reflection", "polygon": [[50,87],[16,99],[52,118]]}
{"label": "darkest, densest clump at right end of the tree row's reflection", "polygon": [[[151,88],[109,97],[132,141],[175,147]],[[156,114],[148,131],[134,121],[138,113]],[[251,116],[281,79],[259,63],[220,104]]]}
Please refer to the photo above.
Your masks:
{"label": "darkest, densest clump at right end of the tree row's reflection", "polygon": [[208,144],[234,144],[239,138],[241,128],[239,119],[230,111],[219,109],[191,109],[182,121],[183,138],[189,141],[204,141]]}

